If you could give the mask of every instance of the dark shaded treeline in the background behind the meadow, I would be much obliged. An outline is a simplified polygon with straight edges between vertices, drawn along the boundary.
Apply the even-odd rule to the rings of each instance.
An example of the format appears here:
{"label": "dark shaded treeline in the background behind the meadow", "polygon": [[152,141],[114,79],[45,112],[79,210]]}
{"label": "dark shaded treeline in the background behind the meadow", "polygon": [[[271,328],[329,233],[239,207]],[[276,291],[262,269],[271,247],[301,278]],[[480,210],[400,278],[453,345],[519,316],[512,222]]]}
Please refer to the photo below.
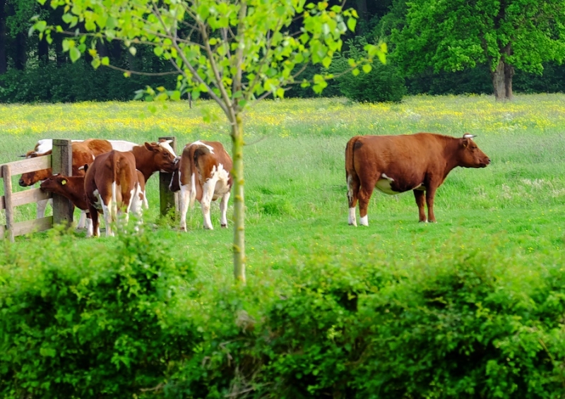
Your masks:
{"label": "dark shaded treeline in the background behind the meadow", "polygon": [[[131,75],[101,67],[90,66],[88,54],[72,63],[63,51],[64,35],[53,35],[48,43],[37,33],[28,35],[32,16],[40,16],[47,23],[60,25],[61,8],[52,10],[36,0],[0,0],[0,102],[75,102],[85,100],[131,100],[135,90],[145,85],[174,88],[175,75],[167,61],[157,58],[151,48],[138,47],[132,56],[117,41],[99,42],[97,52],[108,56],[110,64],[121,69],[158,75]],[[391,43],[390,32],[405,23],[405,0],[350,0],[347,6],[357,10],[359,20],[355,35],[345,38],[343,54],[336,56],[331,72],[348,68],[347,59],[362,53],[366,42]],[[63,24],[63,28],[65,28]],[[74,29],[74,28],[73,28]],[[80,29],[80,26],[78,27]],[[397,44],[399,45],[399,44]],[[304,78],[319,72],[321,66],[309,66]],[[513,89],[518,93],[554,93],[565,91],[565,66],[545,63],[541,74],[516,71]],[[389,57],[386,66],[379,63],[368,74],[351,74],[332,81],[324,96],[345,95],[357,101],[400,101],[403,95],[427,93],[431,95],[487,93],[492,94],[492,80],[486,64],[456,72],[428,70],[408,76]],[[287,91],[287,97],[312,97],[311,88],[299,85]]]}

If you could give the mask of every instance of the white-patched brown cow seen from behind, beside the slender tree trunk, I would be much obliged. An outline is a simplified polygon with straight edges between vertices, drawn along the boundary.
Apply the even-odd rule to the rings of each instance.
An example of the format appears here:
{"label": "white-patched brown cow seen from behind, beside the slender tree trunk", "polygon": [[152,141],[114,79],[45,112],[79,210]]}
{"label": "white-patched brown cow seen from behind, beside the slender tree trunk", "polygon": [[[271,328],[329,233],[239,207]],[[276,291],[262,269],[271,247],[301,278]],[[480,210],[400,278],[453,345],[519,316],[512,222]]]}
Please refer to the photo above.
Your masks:
{"label": "white-patched brown cow seen from behind, beside the slender tree trunk", "polygon": [[204,228],[213,230],[210,220],[210,204],[218,198],[222,214],[220,225],[227,227],[227,201],[232,188],[232,158],[217,141],[196,141],[186,144],[179,160],[178,169],[173,173],[169,189],[181,191],[180,228],[186,231],[186,213],[194,200],[201,203]]}

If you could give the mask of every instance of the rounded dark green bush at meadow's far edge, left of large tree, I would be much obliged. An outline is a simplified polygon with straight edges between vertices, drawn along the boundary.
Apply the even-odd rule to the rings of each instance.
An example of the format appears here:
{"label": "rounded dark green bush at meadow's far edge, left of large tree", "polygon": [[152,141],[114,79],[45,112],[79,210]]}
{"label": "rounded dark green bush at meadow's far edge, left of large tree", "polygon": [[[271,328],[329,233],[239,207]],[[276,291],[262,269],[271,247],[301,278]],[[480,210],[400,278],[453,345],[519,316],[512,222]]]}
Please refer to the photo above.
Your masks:
{"label": "rounded dark green bush at meadow's far edge, left of large tree", "polygon": [[396,66],[391,64],[374,64],[368,72],[353,76],[345,73],[349,69],[348,59],[359,59],[366,56],[362,48],[364,40],[348,41],[347,51],[340,54],[331,66],[332,73],[344,73],[338,78],[340,92],[350,100],[361,102],[400,102],[406,94],[404,78],[400,76]]}

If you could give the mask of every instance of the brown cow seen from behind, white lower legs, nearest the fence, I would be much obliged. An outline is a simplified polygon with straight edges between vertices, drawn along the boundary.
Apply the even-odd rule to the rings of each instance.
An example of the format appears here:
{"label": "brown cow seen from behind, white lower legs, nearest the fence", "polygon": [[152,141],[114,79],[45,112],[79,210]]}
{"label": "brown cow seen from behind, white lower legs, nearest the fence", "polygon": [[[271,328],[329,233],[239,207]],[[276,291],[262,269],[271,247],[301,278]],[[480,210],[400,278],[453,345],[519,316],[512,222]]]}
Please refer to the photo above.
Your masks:
{"label": "brown cow seen from behind, white lower legs, nearest the fence", "polygon": [[[141,174],[141,173],[139,173]],[[112,223],[124,213],[140,215],[143,204],[141,183],[136,171],[136,157],[131,151],[112,150],[96,157],[84,177],[84,191],[92,218],[93,235],[100,235],[98,213],[104,214],[106,235],[113,236]]]}

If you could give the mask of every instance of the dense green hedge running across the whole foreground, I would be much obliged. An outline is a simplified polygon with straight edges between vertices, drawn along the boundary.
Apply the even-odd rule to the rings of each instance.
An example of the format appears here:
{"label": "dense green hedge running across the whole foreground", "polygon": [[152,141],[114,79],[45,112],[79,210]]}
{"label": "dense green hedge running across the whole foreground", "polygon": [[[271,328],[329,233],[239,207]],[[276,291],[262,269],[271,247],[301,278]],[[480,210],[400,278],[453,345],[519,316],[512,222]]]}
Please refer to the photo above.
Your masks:
{"label": "dense green hedge running across the whole foreground", "polygon": [[4,398],[560,398],[562,254],[493,242],[405,264],[322,246],[245,287],[194,275],[153,233],[95,256],[6,244]]}

